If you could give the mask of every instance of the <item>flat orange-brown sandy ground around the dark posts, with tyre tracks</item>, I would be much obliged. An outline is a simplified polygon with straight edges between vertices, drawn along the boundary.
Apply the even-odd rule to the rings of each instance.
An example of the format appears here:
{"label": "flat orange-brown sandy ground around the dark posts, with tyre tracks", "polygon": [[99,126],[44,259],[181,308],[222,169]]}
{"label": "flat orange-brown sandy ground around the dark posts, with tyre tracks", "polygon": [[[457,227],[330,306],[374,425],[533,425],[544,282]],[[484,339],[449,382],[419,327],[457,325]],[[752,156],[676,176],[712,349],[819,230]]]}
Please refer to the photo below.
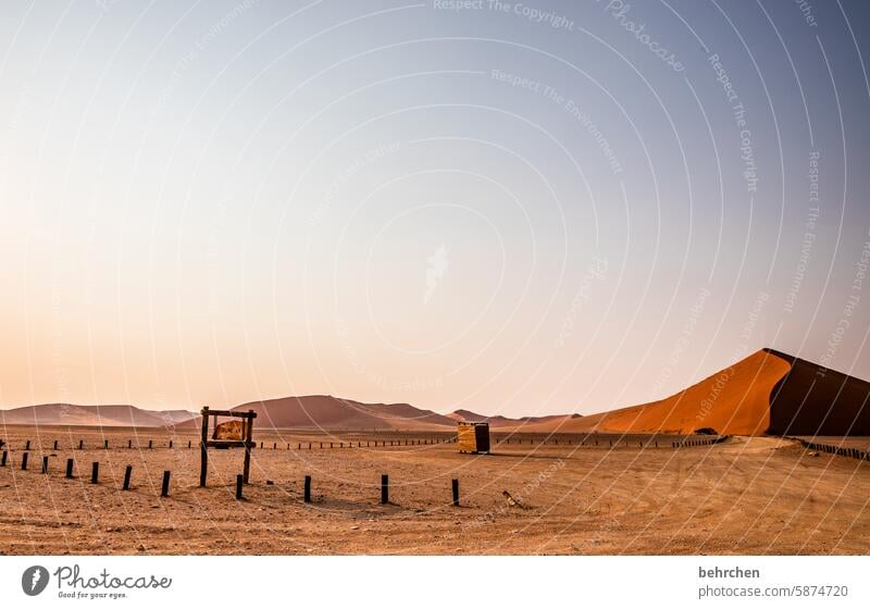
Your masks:
{"label": "flat orange-brown sandy ground around the dark posts, with tyre tracks", "polygon": [[[95,448],[103,436],[109,450]],[[78,437],[86,438],[85,450],[71,450]],[[792,440],[737,437],[681,449],[562,440],[502,444],[495,455],[469,456],[446,444],[286,450],[286,443],[295,447],[310,437],[283,435],[274,438],[279,449],[253,451],[251,484],[237,501],[241,450],[211,450],[209,486],[200,488],[199,451],[186,448],[187,436],[176,436],[174,449],[121,448],[130,437],[124,430],[4,430],[10,452],[0,469],[0,552],[870,551],[870,462],[812,457]],[[140,432],[140,444],[149,437],[167,444],[169,436],[152,431]],[[33,442],[28,471],[20,469],[24,438]],[[42,455],[50,456],[48,475],[40,472]],[[80,473],[74,480],[63,476],[70,457]],[[96,485],[94,461],[100,462]],[[122,492],[127,464],[134,488]],[[169,498],[160,497],[164,470],[172,471]],[[378,502],[382,473],[390,480],[386,506]],[[301,501],[306,474],[313,480],[310,505]],[[460,481],[458,508],[450,506],[451,478]],[[502,490],[526,509],[509,507]]]}

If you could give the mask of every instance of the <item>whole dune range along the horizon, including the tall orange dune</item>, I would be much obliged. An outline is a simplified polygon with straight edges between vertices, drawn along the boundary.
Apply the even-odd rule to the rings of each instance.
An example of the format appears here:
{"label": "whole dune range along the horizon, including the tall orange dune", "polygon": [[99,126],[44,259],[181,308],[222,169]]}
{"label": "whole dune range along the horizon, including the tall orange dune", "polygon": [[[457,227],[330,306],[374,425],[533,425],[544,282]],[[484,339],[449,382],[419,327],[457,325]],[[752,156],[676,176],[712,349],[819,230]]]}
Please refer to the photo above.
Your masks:
{"label": "whole dune range along the horizon, including the tall orange dune", "polygon": [[[243,403],[254,428],[324,431],[449,431],[456,421],[486,421],[499,431],[535,433],[692,433],[732,435],[870,435],[870,383],[762,349],[671,397],[588,417],[485,417],[469,410],[438,414],[409,403],[364,403],[300,396]],[[40,405],[0,410],[0,424],[196,427],[198,413],[134,406]]]}

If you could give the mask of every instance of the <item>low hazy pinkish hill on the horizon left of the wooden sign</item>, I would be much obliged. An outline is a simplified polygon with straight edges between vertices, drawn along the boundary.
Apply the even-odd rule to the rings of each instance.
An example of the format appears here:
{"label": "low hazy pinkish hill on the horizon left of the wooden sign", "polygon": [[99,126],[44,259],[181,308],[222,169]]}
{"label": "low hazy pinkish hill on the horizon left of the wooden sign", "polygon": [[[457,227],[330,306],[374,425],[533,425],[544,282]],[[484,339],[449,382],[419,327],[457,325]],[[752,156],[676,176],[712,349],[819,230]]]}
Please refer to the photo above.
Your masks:
{"label": "low hazy pinkish hill on the horizon left of the wooden sign", "polygon": [[192,415],[186,410],[144,410],[129,405],[41,403],[0,410],[0,424],[163,427]]}

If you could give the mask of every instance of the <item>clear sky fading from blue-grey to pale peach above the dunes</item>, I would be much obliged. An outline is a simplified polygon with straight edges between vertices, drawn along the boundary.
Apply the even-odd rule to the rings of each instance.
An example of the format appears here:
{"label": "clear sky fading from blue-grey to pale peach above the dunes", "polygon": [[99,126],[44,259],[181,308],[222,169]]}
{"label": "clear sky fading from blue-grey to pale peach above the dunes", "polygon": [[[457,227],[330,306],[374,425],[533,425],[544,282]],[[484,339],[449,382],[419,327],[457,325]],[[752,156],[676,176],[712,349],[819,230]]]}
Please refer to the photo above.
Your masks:
{"label": "clear sky fading from blue-grey to pale peach above the dunes", "polygon": [[861,0],[0,3],[0,408],[870,380]]}

